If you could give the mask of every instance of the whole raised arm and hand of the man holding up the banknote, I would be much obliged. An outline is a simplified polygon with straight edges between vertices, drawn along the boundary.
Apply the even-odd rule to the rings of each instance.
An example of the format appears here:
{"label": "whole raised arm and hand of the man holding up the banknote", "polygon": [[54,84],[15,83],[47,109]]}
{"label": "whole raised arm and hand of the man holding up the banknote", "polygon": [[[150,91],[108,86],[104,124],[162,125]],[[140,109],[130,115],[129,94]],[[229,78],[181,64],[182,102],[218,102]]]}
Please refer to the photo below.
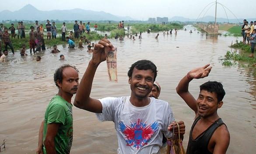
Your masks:
{"label": "whole raised arm and hand of the man holding up the banknote", "polygon": [[80,81],[74,105],[80,109],[88,110],[94,113],[102,113],[102,105],[99,100],[90,97],[91,88],[93,84],[93,78],[97,67],[101,62],[106,60],[105,47],[110,47],[114,50],[113,45],[107,39],[102,39],[93,49],[93,57],[90,60],[88,67],[86,68],[83,78]]}

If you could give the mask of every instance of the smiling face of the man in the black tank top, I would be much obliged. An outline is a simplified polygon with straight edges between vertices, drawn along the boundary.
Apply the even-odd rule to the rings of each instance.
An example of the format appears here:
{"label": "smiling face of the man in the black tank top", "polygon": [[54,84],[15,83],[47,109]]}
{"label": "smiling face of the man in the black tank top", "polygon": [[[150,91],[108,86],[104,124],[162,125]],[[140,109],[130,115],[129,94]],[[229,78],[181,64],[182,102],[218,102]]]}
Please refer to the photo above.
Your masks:
{"label": "smiling face of the man in the black tank top", "polygon": [[217,109],[222,106],[223,102],[218,102],[217,94],[207,90],[201,90],[197,98],[197,114],[201,117],[210,117],[217,114]]}

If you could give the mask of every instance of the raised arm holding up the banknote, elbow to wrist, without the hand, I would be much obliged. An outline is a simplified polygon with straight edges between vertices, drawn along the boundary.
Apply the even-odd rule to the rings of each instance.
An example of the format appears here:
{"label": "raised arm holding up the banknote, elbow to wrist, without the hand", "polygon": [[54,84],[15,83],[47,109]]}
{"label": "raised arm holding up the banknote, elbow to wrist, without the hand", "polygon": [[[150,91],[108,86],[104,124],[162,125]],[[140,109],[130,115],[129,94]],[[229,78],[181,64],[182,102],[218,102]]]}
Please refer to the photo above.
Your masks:
{"label": "raised arm holding up the banknote, elbow to wrist, without the hand", "polygon": [[78,86],[74,105],[80,109],[94,113],[102,113],[102,104],[99,100],[90,98],[93,78],[99,64],[93,64],[90,60],[83,78]]}

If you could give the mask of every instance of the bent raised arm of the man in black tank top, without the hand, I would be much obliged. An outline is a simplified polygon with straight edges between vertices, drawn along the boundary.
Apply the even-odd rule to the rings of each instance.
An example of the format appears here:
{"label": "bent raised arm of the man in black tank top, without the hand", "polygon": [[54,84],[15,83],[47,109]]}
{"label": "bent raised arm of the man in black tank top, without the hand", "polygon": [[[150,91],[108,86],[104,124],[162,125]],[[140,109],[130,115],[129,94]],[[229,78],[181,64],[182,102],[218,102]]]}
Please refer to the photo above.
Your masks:
{"label": "bent raised arm of the man in black tank top, without the hand", "polygon": [[190,94],[190,92],[188,91],[188,85],[189,82],[192,80],[192,78],[190,78],[188,75],[186,75],[185,77],[183,77],[178,86],[176,87],[176,92],[180,95],[180,97],[187,103],[187,105],[194,110],[195,113],[197,113],[197,106],[196,106],[196,100],[195,98],[192,96],[192,94]]}

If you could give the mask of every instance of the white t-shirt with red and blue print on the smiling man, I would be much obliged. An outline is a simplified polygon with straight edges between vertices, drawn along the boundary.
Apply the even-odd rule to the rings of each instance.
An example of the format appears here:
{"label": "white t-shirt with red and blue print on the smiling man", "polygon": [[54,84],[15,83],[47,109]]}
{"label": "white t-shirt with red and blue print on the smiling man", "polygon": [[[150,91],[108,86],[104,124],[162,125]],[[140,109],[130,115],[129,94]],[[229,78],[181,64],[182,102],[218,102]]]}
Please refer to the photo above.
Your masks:
{"label": "white t-shirt with red and blue print on the smiling man", "polygon": [[[163,133],[174,121],[173,112],[166,101],[150,98],[149,105],[135,107],[130,97],[106,97],[100,99],[100,121],[113,121],[118,136],[118,154],[159,154]],[[162,133],[163,132],[163,133]]]}

